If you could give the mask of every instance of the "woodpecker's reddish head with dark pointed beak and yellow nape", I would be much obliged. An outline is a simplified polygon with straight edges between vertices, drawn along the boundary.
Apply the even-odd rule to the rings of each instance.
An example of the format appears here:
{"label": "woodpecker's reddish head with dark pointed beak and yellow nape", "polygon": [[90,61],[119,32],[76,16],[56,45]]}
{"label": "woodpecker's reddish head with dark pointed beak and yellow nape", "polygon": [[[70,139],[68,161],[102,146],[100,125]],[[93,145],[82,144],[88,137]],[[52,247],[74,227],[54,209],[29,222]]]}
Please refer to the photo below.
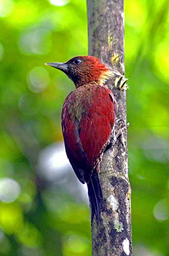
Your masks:
{"label": "woodpecker's reddish head with dark pointed beak and yellow nape", "polygon": [[94,56],[78,56],[67,62],[45,63],[64,72],[73,82],[76,88],[85,84],[96,83],[101,86],[112,77],[112,72],[100,59]]}

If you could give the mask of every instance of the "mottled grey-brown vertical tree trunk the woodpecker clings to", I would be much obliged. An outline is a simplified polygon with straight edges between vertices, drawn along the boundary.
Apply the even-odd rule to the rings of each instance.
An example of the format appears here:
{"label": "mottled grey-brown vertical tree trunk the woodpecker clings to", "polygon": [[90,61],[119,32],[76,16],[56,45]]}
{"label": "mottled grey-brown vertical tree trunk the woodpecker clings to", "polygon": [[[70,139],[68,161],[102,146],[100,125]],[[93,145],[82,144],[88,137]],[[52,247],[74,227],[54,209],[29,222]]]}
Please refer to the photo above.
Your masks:
{"label": "mottled grey-brown vertical tree trunk the woodpecker clings to", "polygon": [[[89,55],[102,59],[124,75],[124,3],[123,0],[87,0]],[[100,179],[103,188],[101,218],[93,220],[92,255],[125,256],[132,254],[131,188],[128,178],[126,91],[109,89],[118,104],[115,133],[122,136],[104,153]],[[123,129],[122,129],[123,127]]]}

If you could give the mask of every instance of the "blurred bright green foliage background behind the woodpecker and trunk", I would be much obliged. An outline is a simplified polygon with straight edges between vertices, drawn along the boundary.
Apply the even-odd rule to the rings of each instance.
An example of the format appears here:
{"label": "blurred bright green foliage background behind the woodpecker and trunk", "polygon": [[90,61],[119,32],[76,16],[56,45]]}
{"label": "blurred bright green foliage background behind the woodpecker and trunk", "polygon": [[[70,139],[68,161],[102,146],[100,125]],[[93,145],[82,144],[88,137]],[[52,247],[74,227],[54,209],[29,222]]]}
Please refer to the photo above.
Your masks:
{"label": "blurred bright green foliage background behind the woodpecker and trunk", "polygon": [[[135,256],[169,255],[168,5],[125,3]],[[0,0],[0,26],[0,255],[91,255],[85,200],[38,165],[45,147],[63,141],[62,104],[74,89],[44,63],[87,55],[86,2]]]}

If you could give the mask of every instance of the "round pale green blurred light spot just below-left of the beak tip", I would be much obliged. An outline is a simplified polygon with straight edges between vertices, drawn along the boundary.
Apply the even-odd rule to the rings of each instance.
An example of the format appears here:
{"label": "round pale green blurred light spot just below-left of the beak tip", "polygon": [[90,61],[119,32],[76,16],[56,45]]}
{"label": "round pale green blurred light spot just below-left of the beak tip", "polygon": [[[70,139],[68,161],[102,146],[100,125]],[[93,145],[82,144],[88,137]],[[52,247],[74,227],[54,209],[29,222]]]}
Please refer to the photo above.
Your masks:
{"label": "round pale green blurred light spot just below-left of the beak tip", "polygon": [[32,92],[42,92],[48,86],[49,82],[49,72],[45,68],[35,67],[30,71],[28,75],[29,89]]}

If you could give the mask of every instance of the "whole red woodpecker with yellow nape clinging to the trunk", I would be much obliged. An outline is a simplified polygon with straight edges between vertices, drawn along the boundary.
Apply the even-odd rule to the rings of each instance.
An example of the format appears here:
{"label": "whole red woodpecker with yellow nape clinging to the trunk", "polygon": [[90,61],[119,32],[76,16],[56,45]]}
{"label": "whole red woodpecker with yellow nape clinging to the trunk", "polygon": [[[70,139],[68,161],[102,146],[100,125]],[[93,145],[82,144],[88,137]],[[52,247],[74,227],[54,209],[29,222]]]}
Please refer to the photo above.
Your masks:
{"label": "whole red woodpecker with yellow nape clinging to the trunk", "polygon": [[100,162],[109,144],[117,114],[117,103],[106,86],[109,68],[94,56],[78,56],[67,62],[46,63],[64,72],[76,89],[62,108],[62,132],[67,157],[78,179],[87,183],[91,222],[102,208]]}

